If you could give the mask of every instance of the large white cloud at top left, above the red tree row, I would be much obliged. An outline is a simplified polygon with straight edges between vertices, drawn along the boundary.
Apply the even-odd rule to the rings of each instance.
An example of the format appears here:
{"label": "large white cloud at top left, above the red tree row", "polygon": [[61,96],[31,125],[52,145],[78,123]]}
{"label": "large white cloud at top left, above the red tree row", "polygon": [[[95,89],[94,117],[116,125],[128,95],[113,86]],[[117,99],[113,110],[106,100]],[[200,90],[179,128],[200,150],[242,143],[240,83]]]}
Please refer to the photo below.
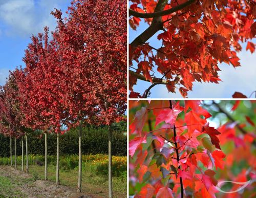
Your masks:
{"label": "large white cloud at top left, above the red tree row", "polygon": [[7,29],[7,35],[31,36],[43,32],[45,26],[54,30],[55,18],[50,14],[59,4],[68,3],[68,0],[0,0],[0,22]]}

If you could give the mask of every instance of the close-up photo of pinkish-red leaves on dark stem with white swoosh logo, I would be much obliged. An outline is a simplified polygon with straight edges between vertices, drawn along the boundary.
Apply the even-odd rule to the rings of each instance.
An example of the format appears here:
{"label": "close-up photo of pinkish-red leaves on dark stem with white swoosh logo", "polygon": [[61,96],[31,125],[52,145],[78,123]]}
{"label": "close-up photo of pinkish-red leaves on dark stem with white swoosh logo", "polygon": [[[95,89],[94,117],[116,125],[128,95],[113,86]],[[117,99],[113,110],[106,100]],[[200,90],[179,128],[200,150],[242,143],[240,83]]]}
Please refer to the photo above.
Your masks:
{"label": "close-up photo of pinkish-red leaves on dark stem with white swoosh logo", "polygon": [[130,197],[255,197],[255,104],[130,101]]}

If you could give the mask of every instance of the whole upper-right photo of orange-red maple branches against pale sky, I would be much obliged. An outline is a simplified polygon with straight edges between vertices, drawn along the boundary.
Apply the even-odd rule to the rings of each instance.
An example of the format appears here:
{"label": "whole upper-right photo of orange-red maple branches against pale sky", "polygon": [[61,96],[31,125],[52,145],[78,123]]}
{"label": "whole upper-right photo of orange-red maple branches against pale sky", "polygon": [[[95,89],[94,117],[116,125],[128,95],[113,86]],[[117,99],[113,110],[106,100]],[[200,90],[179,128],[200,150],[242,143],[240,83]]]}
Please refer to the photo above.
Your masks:
{"label": "whole upper-right photo of orange-red maple branches against pale sky", "polygon": [[129,97],[254,98],[255,7],[129,0]]}

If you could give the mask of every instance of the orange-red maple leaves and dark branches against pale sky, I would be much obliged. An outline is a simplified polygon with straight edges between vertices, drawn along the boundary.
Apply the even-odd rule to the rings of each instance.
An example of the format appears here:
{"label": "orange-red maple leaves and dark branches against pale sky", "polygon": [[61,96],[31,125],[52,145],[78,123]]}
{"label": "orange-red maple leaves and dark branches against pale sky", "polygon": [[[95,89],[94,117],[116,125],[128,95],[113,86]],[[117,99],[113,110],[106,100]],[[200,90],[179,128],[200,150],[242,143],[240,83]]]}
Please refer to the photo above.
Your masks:
{"label": "orange-red maple leaves and dark branches against pale sky", "polygon": [[[134,38],[129,46],[130,98],[149,97],[157,84],[164,84],[166,92],[179,91],[186,98],[196,81],[222,81],[219,76],[222,62],[233,68],[243,66],[238,57],[242,48],[250,53],[255,51],[255,1],[130,0],[129,3],[130,28],[142,29],[130,33]],[[151,46],[153,37],[157,37],[157,46],[161,47],[154,46],[157,40]],[[152,86],[136,93],[134,86],[138,80],[149,81]]]}

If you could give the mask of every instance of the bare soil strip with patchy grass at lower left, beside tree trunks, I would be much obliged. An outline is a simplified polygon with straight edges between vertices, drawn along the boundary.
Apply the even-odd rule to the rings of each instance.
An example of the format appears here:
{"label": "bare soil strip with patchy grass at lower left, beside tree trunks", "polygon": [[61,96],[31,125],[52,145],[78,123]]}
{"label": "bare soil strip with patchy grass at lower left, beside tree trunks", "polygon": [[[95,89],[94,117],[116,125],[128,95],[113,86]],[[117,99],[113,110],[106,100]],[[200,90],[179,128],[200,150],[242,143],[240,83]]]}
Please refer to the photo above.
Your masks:
{"label": "bare soil strip with patchy grass at lower left, beside tree trunks", "polygon": [[95,197],[54,182],[35,180],[32,175],[0,166],[0,197]]}

